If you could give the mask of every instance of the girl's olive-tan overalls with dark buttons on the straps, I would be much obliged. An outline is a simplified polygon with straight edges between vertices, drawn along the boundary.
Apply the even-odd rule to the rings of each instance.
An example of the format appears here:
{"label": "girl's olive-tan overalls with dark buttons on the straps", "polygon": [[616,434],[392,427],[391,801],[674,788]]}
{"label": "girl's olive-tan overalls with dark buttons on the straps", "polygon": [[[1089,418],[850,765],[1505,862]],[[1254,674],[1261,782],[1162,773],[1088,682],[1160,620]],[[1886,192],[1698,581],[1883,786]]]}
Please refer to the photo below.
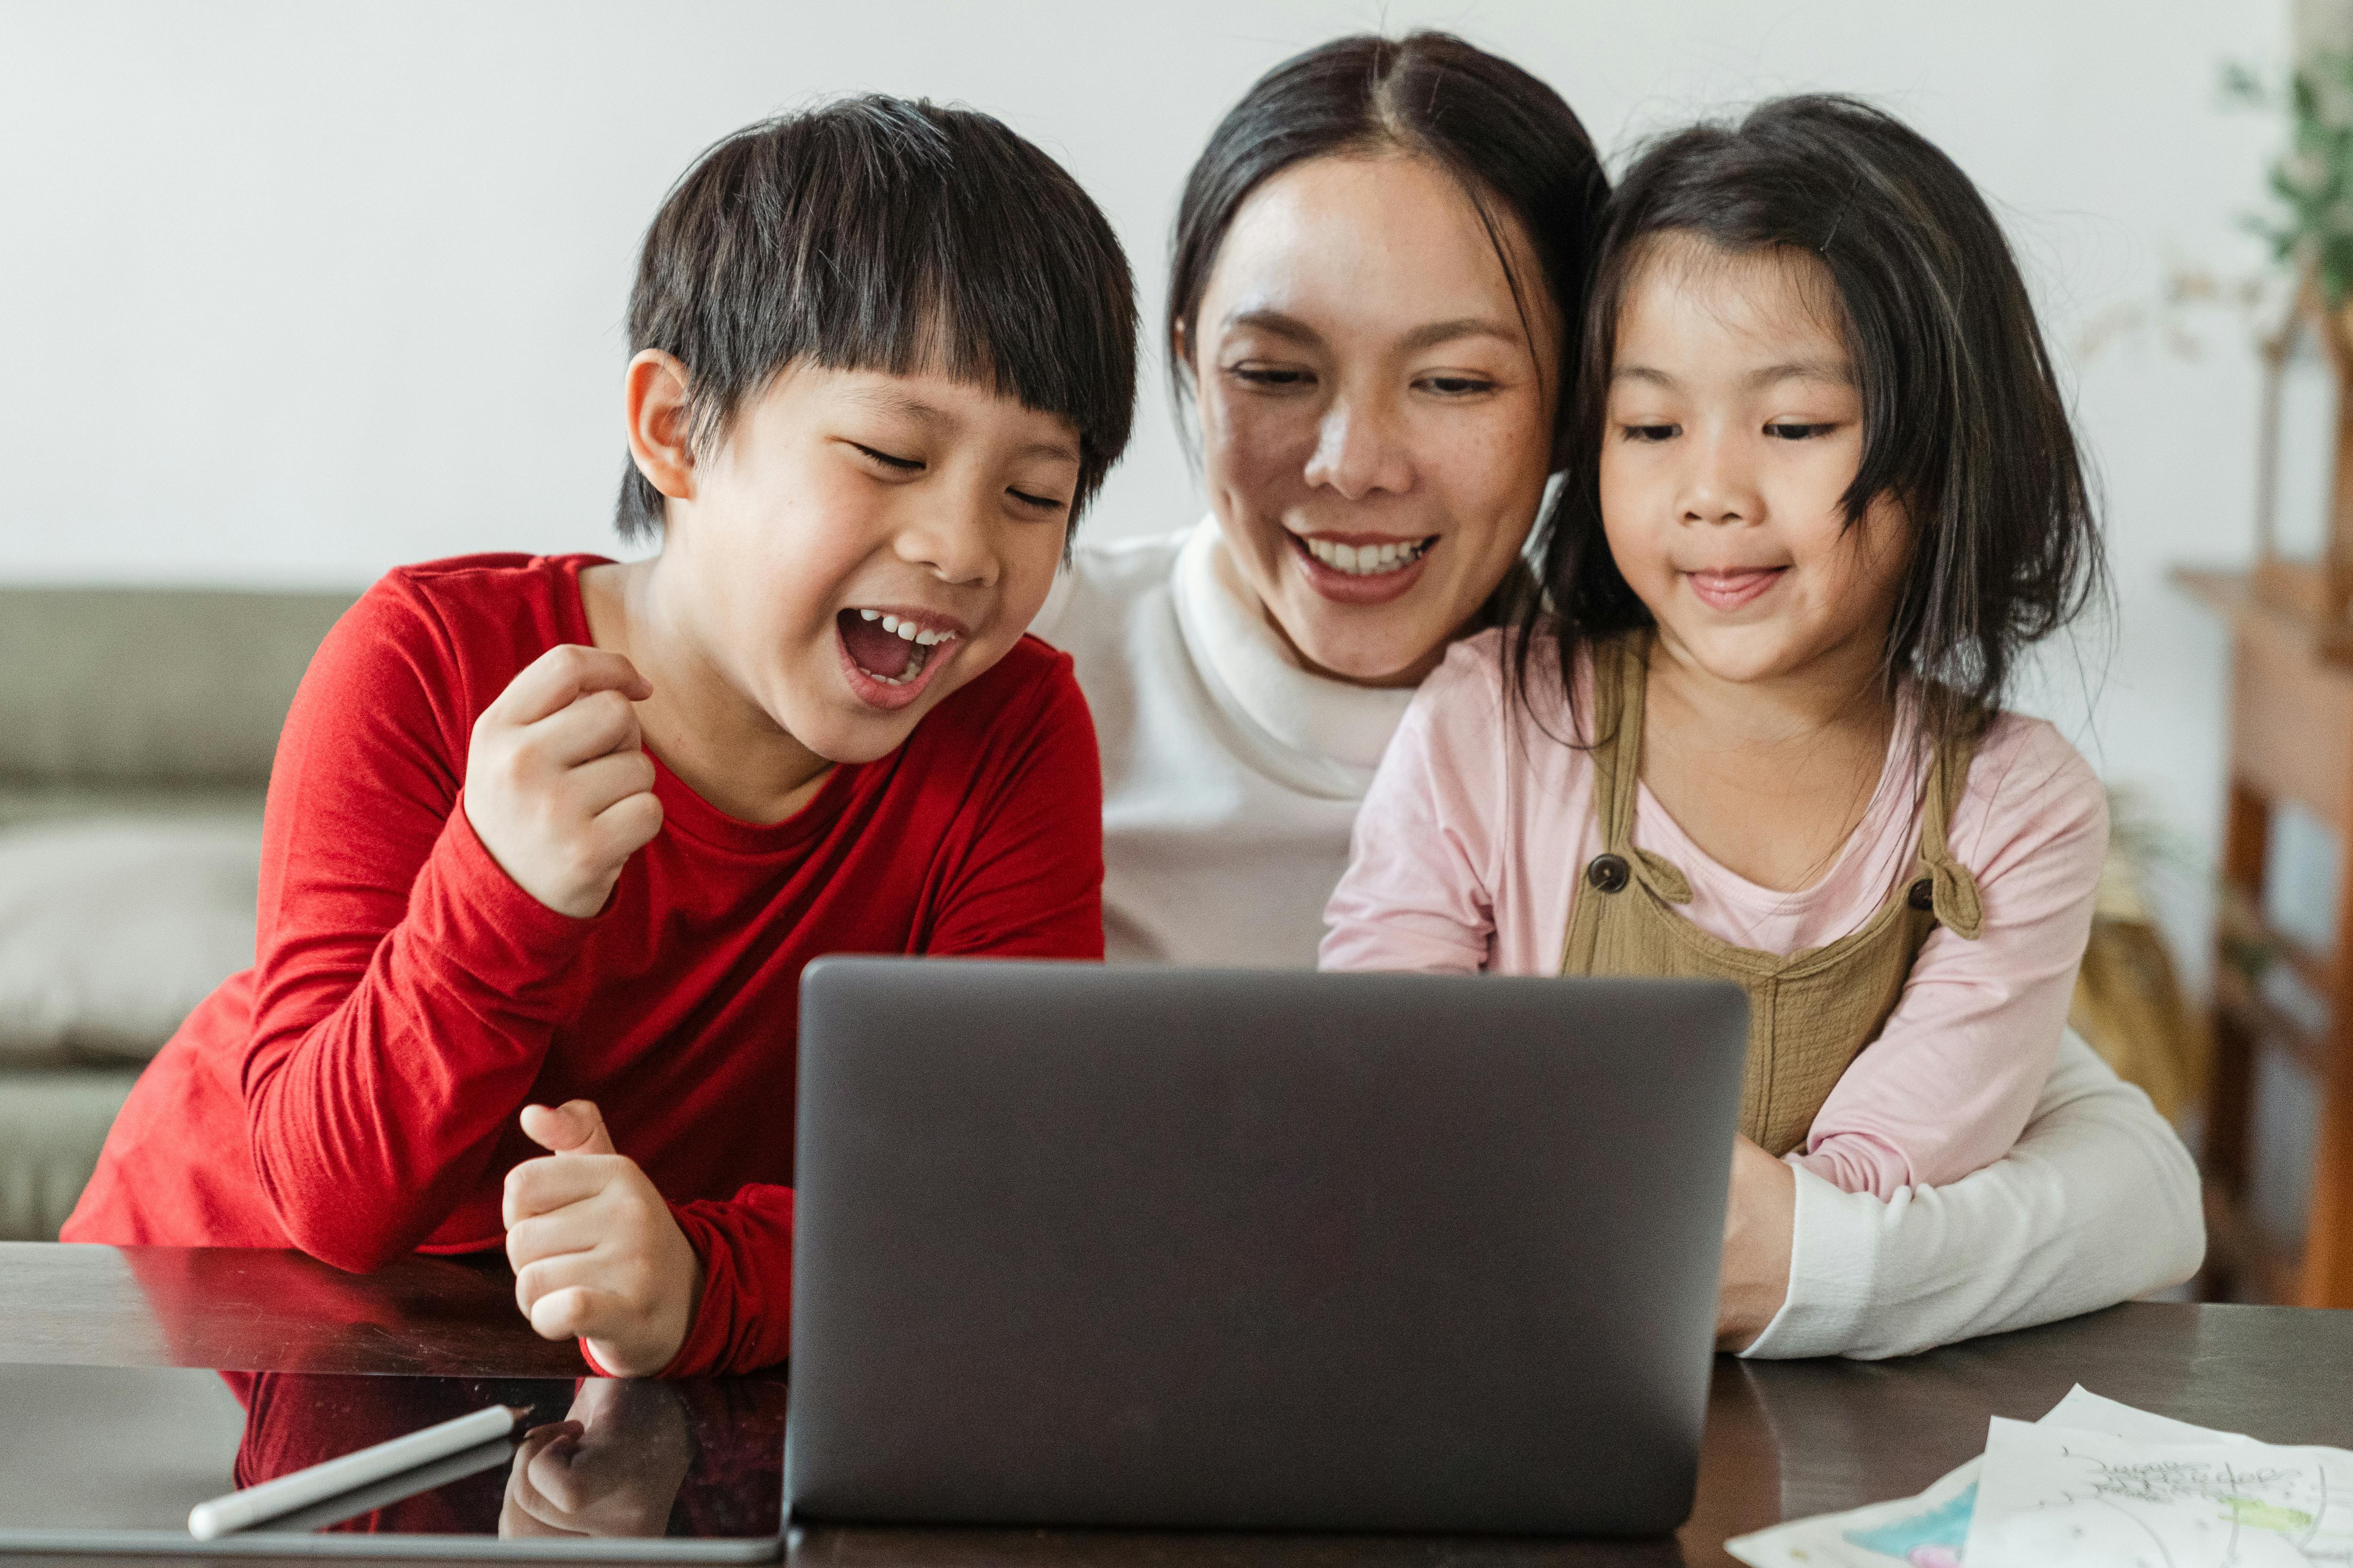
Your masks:
{"label": "girl's olive-tan overalls with dark buttons on the straps", "polygon": [[1927,933],[1941,924],[1977,940],[1984,929],[1977,879],[1944,842],[1977,745],[1958,741],[1937,750],[1913,877],[1861,929],[1786,957],[1734,947],[1675,912],[1673,905],[1692,900],[1692,886],[1664,856],[1633,842],[1647,654],[1647,635],[1593,649],[1591,733],[1600,736],[1593,811],[1602,853],[1579,877],[1560,973],[1739,983],[1748,992],[1741,1133],[1779,1157],[1805,1140],[1838,1074],[1880,1037]]}

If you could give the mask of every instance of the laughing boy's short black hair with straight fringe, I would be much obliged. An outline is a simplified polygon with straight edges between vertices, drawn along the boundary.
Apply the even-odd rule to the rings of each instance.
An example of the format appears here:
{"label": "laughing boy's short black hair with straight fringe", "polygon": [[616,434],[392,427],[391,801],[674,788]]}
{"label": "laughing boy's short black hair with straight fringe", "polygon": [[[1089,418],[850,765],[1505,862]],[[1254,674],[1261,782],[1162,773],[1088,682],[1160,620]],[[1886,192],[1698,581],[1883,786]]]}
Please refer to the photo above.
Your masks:
{"label": "laughing boy's short black hair with straight fringe", "polygon": [[[1127,449],[1136,292],[1101,209],[1061,165],[969,108],[864,94],[704,153],[645,230],[628,350],[687,367],[696,449],[807,360],[939,371],[1078,428],[1071,524]],[[614,524],[661,534],[631,463]]]}

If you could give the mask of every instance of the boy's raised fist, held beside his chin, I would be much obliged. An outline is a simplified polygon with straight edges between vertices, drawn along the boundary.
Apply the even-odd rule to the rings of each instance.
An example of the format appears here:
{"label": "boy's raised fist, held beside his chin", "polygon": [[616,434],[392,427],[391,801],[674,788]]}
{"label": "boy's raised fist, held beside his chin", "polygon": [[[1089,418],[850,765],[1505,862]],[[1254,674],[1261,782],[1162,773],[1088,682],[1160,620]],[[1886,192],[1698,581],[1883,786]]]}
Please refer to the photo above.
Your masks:
{"label": "boy's raised fist, held beside his chin", "polygon": [[638,710],[652,682],[619,654],[560,644],[473,724],[466,820],[525,893],[588,919],[661,832]]}

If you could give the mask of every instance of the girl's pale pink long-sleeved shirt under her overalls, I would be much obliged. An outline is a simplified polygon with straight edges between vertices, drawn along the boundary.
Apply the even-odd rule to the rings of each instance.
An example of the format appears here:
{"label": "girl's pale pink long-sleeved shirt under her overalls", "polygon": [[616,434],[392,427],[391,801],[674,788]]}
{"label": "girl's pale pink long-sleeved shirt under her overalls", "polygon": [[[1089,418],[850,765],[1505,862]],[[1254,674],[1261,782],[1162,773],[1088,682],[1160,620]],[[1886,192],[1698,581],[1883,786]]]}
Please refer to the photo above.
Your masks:
{"label": "girl's pale pink long-sleeved shirt under her overalls", "polygon": [[[1567,733],[1558,677],[1548,712],[1508,703],[1501,651],[1504,632],[1457,644],[1407,708],[1325,912],[1322,969],[1560,971],[1579,875],[1602,851],[1593,769],[1588,752],[1555,738]],[[1529,670],[1548,658],[1551,646],[1532,649]],[[1541,705],[1544,682],[1532,677],[1529,693]],[[1915,741],[1906,705],[1861,825],[1805,891],[1725,870],[1647,788],[1633,839],[1689,879],[1680,914],[1701,931],[1762,952],[1821,947],[1913,877],[1925,788]],[[2092,933],[2106,792],[2057,729],[2005,712],[1977,748],[1948,842],[1977,877],[1984,933],[1929,933],[1880,1039],[1791,1154],[1847,1192],[1958,1180],[2026,1128]]]}

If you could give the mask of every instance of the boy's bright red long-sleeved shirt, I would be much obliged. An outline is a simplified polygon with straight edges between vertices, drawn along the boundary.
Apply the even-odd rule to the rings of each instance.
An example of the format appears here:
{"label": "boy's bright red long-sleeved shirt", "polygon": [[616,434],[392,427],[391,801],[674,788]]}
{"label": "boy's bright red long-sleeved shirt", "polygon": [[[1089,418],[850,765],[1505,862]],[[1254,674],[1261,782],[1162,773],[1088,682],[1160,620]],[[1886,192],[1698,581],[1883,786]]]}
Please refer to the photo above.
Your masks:
{"label": "boy's bright red long-sleeved shirt", "polygon": [[532,1103],[595,1100],[704,1258],[675,1373],[781,1361],[800,969],[826,952],[1099,959],[1101,771],[1071,658],[1019,642],[793,818],[656,769],[664,825],[595,919],[489,858],[475,717],[588,637],[600,557],[405,567],[327,635],[278,743],[254,969],[115,1119],[68,1241],[299,1246],[346,1269],[504,1244]]}

